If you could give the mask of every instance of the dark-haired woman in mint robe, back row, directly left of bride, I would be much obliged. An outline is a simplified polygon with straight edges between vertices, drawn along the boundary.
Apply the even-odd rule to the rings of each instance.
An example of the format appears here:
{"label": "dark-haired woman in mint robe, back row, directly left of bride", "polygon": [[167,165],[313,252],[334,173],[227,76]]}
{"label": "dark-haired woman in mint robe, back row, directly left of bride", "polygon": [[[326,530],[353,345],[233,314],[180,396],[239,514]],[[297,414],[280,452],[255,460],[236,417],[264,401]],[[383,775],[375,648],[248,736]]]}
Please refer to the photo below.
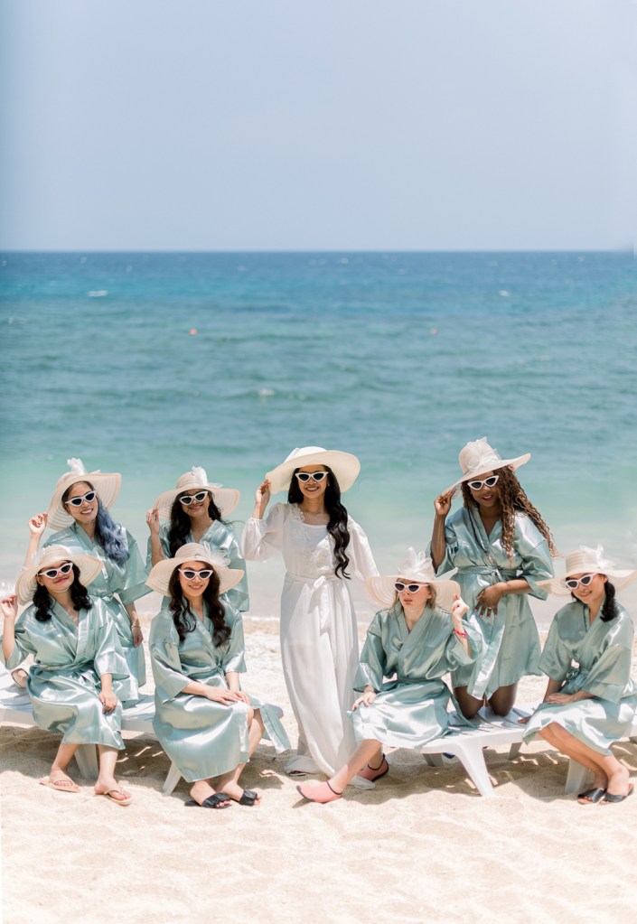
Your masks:
{"label": "dark-haired woman in mint robe, back row, directly left of bride", "polygon": [[[180,475],[173,491],[165,491],[146,514],[151,535],[146,570],[165,558],[174,558],[187,542],[205,542],[229,560],[229,566],[243,571],[237,587],[227,591],[227,601],[244,612],[250,609],[246,564],[239,554],[239,542],[226,517],[239,505],[239,491],[208,480],[205,469],[194,466]],[[160,523],[160,520],[165,520]]]}

